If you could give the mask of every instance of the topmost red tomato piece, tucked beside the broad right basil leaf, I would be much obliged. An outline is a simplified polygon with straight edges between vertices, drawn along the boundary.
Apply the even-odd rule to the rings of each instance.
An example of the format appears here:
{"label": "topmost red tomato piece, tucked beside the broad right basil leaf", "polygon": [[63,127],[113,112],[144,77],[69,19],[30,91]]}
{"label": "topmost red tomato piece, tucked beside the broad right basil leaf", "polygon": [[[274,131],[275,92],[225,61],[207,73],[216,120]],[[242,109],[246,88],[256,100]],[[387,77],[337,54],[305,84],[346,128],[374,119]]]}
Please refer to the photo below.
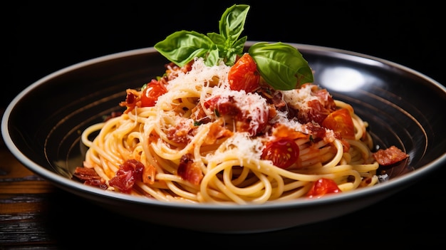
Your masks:
{"label": "topmost red tomato piece, tucked beside the broad right basil leaf", "polygon": [[232,90],[254,92],[259,88],[260,75],[254,59],[245,53],[229,70],[229,86]]}

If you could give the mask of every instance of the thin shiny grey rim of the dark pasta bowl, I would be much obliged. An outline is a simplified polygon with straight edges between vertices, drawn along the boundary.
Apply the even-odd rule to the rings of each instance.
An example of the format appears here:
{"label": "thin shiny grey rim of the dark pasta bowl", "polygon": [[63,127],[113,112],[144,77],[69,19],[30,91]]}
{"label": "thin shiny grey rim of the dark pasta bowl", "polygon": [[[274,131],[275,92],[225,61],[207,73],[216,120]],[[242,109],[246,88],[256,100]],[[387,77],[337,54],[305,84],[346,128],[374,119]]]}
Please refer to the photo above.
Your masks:
{"label": "thin shiny grey rim of the dark pasta bowl", "polygon": [[[256,43],[257,41],[247,41],[245,43],[245,46],[251,46],[252,44]],[[271,43],[271,42],[269,42]],[[437,88],[442,90],[442,92],[446,95],[446,88],[445,86],[438,83],[436,80],[430,78],[429,76],[420,73],[418,71],[413,70],[412,68],[408,68],[406,66],[400,65],[398,63],[394,63],[392,61],[385,60],[383,58],[378,58],[375,56],[368,56],[363,53],[357,53],[353,51],[347,51],[339,48],[331,48],[326,46],[316,46],[316,45],[308,45],[303,43],[288,43],[292,46],[296,46],[296,48],[299,48],[301,51],[320,51],[321,53],[331,52],[331,53],[337,53],[338,56],[341,58],[348,58],[349,60],[354,61],[363,61],[367,60],[368,63],[384,63],[386,65],[392,66],[394,68],[400,68],[403,71],[407,71],[408,73],[412,75],[418,75],[420,78],[424,78],[428,82],[432,83],[432,85],[435,85]],[[365,189],[356,189],[355,192],[346,192],[342,194],[336,194],[333,196],[326,196],[323,197],[323,199],[295,199],[291,201],[286,202],[267,202],[265,204],[245,204],[245,205],[239,205],[239,204],[228,204],[228,205],[222,205],[222,204],[188,204],[188,203],[181,203],[181,202],[162,202],[155,199],[147,199],[145,197],[135,197],[128,194],[120,194],[117,192],[111,192],[106,191],[103,189],[98,189],[97,187],[90,187],[87,185],[82,184],[81,182],[76,182],[75,180],[68,179],[67,177],[63,177],[61,175],[56,174],[55,172],[52,172],[50,170],[47,170],[45,167],[42,167],[36,162],[33,162],[33,160],[29,159],[24,153],[22,153],[18,147],[16,147],[14,141],[12,140],[11,136],[9,135],[9,127],[8,127],[8,120],[9,116],[14,110],[14,106],[21,100],[21,98],[24,97],[26,93],[29,91],[32,91],[34,88],[36,88],[38,85],[46,83],[47,80],[50,80],[51,78],[56,78],[58,75],[63,75],[64,73],[73,71],[77,68],[83,68],[85,66],[90,66],[95,63],[100,63],[103,61],[109,61],[113,60],[115,58],[123,58],[128,56],[135,56],[140,55],[143,53],[157,53],[154,47],[147,47],[147,48],[137,48],[129,51],[121,51],[118,53],[112,53],[105,56],[99,56],[97,58],[91,58],[86,61],[81,61],[80,63],[75,63],[71,66],[67,66],[65,68],[61,68],[58,71],[55,71],[53,73],[50,73],[43,78],[36,80],[36,82],[31,83],[31,85],[28,85],[28,87],[24,88],[24,90],[21,90],[21,92],[16,95],[16,97],[9,103],[9,105],[4,110],[4,114],[2,115],[1,119],[1,135],[4,140],[4,144],[9,149],[9,151],[16,157],[21,164],[23,164],[26,168],[34,172],[36,175],[43,177],[43,179],[49,180],[51,183],[55,184],[57,187],[61,189],[65,189],[66,191],[70,192],[71,190],[76,190],[78,192],[83,192],[90,195],[97,195],[98,197],[103,197],[107,199],[112,200],[120,200],[121,202],[133,202],[143,205],[150,205],[150,206],[158,206],[158,207],[171,207],[171,208],[179,208],[179,209],[215,209],[215,210],[261,210],[261,209],[290,209],[290,208],[297,208],[297,207],[311,207],[316,206],[320,204],[331,204],[333,202],[341,202],[341,201],[347,201],[351,199],[361,198],[361,197],[368,197],[373,194],[383,193],[387,194],[387,196],[390,196],[391,194],[397,192],[399,189],[414,184],[415,182],[418,182],[420,179],[424,178],[430,172],[433,172],[437,168],[440,168],[441,165],[446,165],[446,152],[443,153],[440,157],[437,157],[436,159],[432,160],[431,162],[427,163],[426,165],[423,165],[422,167],[418,168],[417,170],[414,170],[413,172],[408,172],[402,177],[395,177],[394,179],[391,179],[388,182],[383,182],[378,185],[375,185],[373,187],[368,187]],[[389,192],[389,190],[392,190]]]}

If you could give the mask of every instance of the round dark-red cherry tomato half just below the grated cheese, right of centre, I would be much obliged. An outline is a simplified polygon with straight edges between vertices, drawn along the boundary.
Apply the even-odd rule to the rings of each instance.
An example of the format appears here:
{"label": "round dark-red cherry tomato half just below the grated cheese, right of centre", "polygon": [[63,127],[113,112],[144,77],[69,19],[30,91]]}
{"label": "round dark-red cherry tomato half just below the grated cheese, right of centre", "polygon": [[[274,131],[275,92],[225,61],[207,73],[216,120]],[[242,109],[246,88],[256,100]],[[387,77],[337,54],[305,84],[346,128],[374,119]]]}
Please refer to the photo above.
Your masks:
{"label": "round dark-red cherry tomato half just below the grated cheese, right of centre", "polygon": [[299,159],[299,146],[289,138],[273,140],[266,143],[261,159],[271,160],[274,166],[287,169]]}

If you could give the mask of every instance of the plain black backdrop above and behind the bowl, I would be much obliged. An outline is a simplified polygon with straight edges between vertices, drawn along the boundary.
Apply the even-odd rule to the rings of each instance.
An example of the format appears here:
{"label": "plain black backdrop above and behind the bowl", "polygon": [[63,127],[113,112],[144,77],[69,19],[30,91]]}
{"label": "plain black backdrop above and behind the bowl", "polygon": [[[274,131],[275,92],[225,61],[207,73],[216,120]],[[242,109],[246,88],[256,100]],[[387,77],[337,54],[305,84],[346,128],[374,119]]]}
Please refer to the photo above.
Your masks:
{"label": "plain black backdrop above and behind the bowl", "polygon": [[218,32],[220,16],[235,3],[251,5],[244,30],[249,40],[365,53],[408,66],[444,84],[445,16],[440,4],[399,2],[13,2],[3,15],[5,73],[11,77],[3,84],[9,90],[1,91],[1,106],[27,85],[74,63],[153,46],[181,29]]}

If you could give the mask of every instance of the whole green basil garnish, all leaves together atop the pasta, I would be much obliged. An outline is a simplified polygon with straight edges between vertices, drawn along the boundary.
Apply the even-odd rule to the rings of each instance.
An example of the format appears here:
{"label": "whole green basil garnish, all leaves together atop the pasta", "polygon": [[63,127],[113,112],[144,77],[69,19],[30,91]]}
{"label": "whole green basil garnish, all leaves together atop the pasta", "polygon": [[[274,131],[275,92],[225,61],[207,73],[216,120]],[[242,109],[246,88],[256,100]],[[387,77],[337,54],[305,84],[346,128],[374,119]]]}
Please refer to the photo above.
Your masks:
{"label": "whole green basil garnish, all leaves together atop the pasta", "polygon": [[[155,49],[177,66],[185,66],[196,57],[204,58],[207,66],[224,62],[234,65],[242,56],[247,36],[239,38],[249,11],[249,5],[234,4],[219,21],[219,33],[204,35],[195,31],[177,31],[155,44]],[[286,43],[254,43],[249,48],[257,69],[272,88],[291,90],[304,83],[313,82],[313,72],[308,62],[293,46]]]}

